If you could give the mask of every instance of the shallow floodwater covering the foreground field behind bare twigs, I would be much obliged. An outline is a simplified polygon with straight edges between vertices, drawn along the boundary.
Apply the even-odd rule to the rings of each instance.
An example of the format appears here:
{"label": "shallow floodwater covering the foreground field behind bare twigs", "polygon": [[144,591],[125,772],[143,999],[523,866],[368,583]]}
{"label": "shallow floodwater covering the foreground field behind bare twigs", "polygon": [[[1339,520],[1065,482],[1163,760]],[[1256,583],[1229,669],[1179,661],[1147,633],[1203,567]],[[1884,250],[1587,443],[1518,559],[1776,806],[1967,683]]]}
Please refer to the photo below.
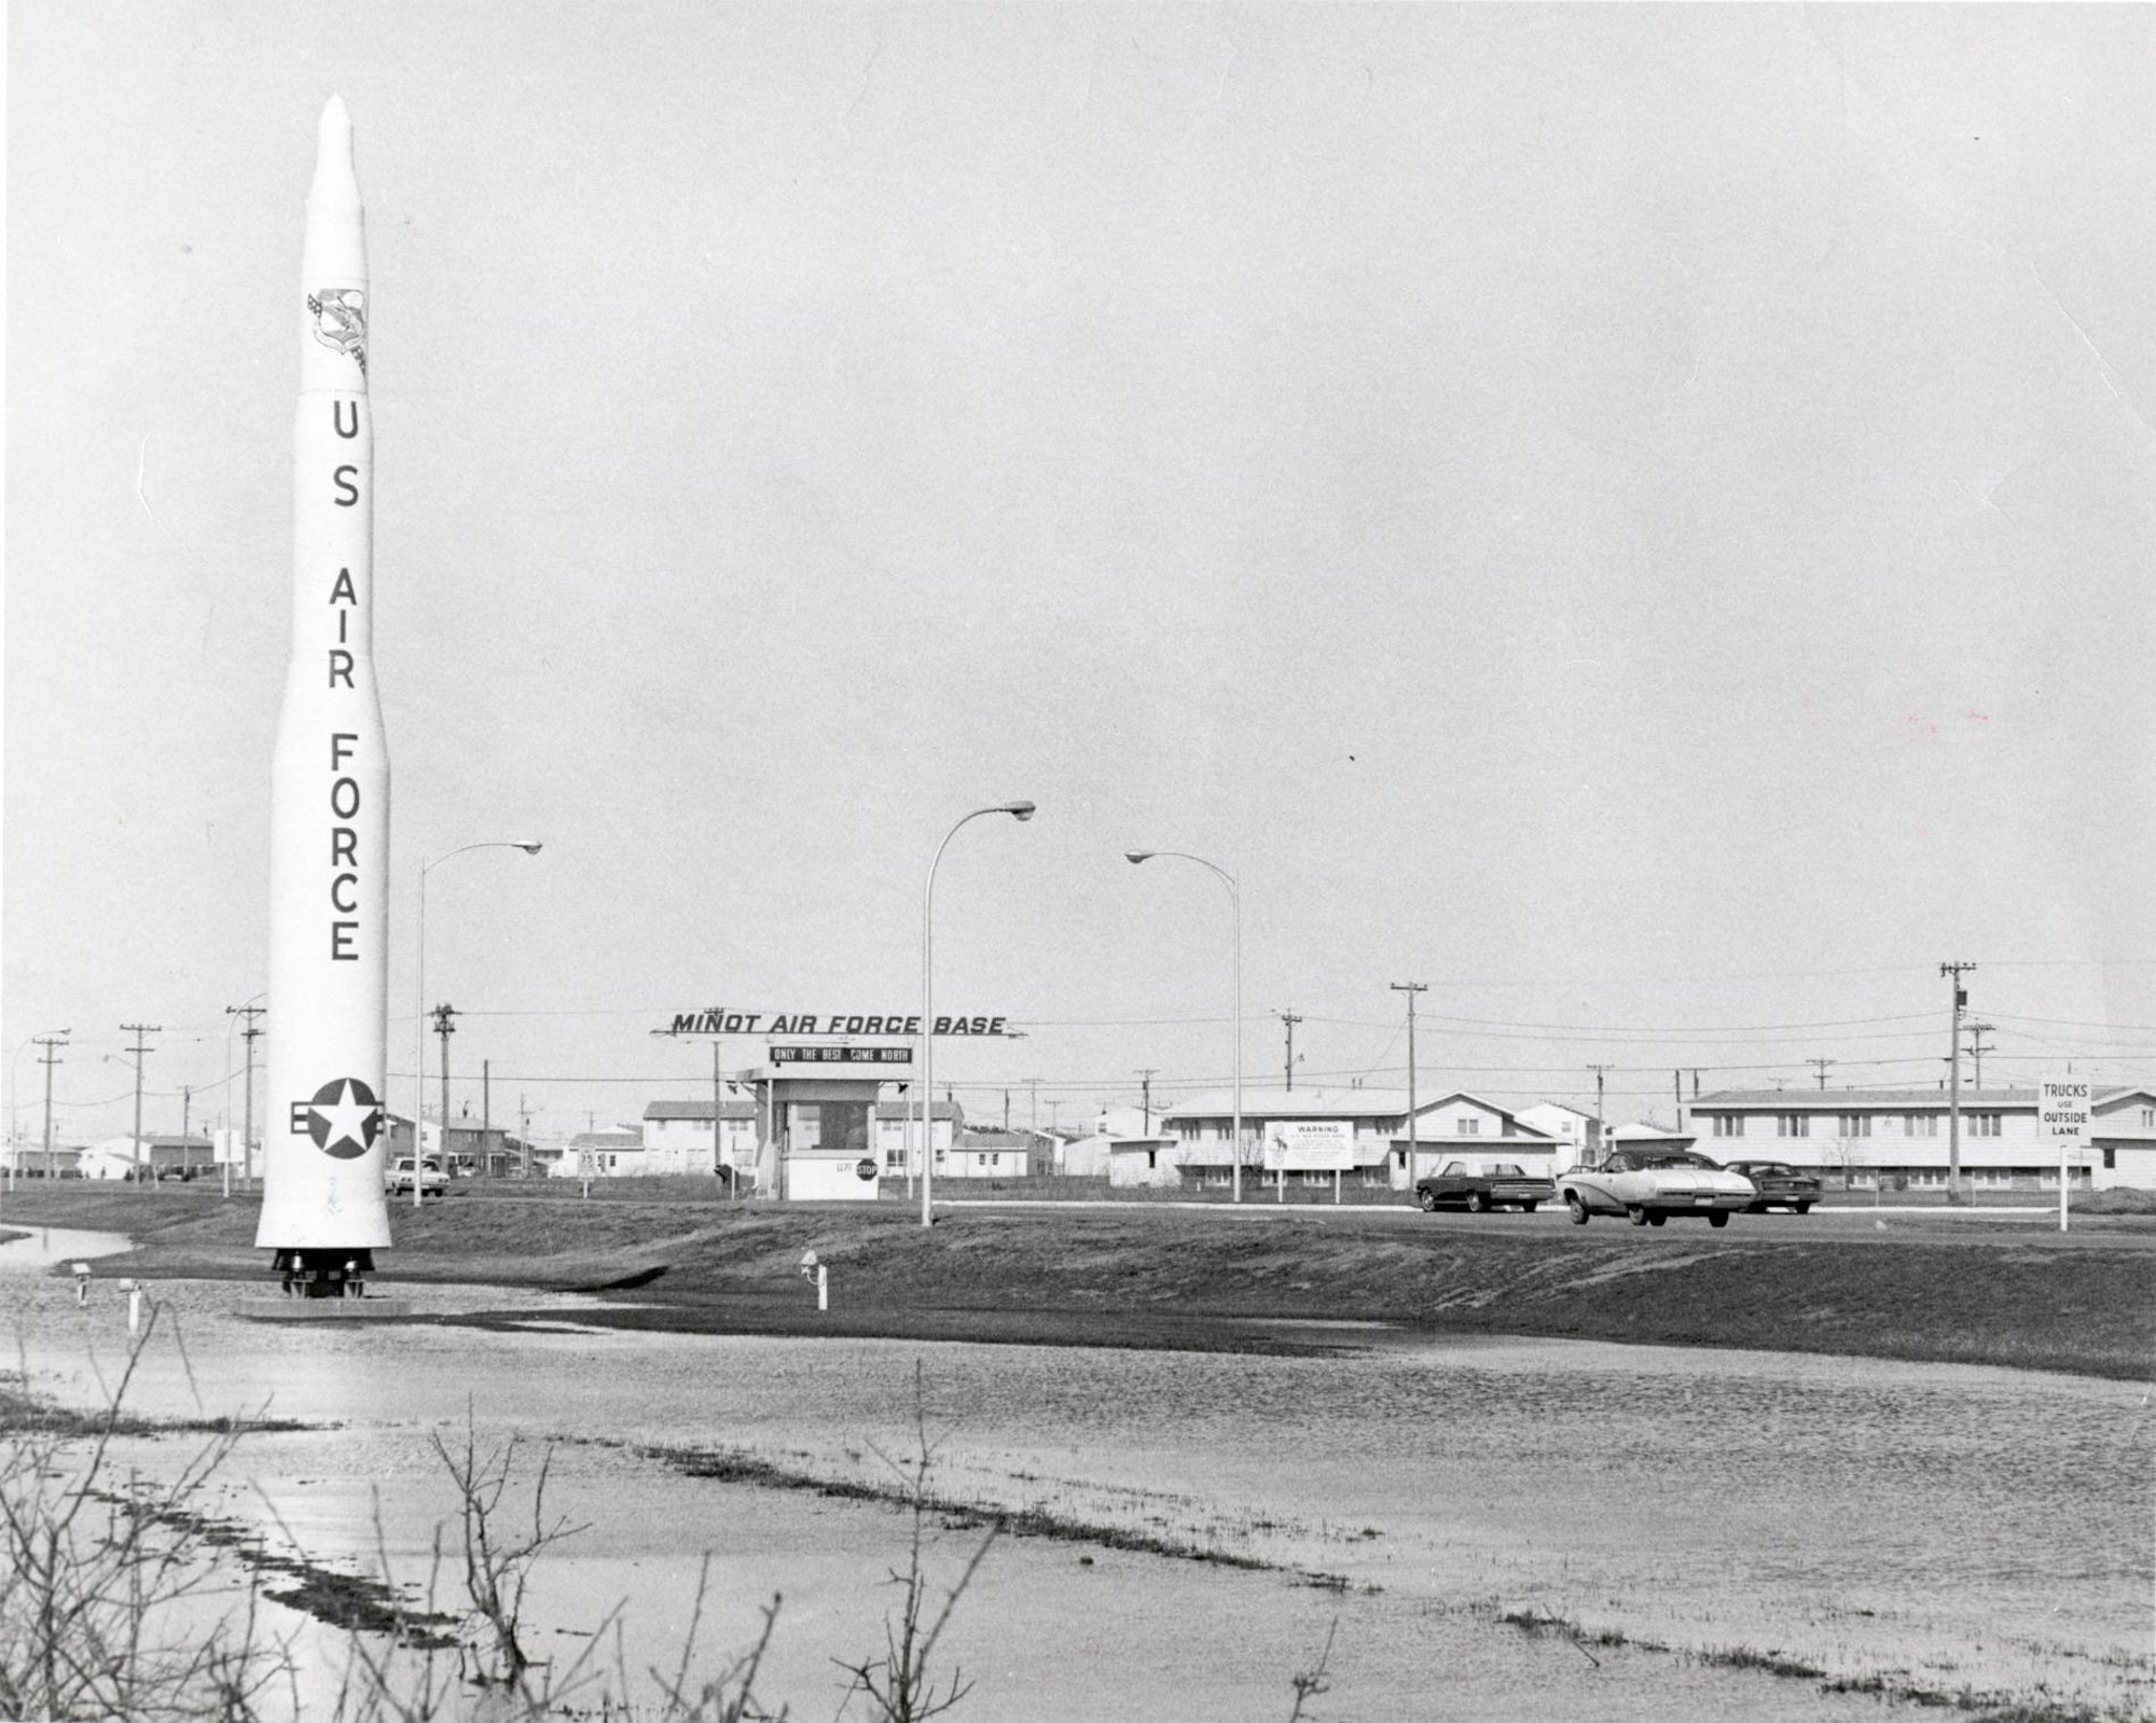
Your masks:
{"label": "shallow floodwater covering the foreground field behind bare twigs", "polygon": [[[119,1273],[86,1307],[0,1275],[34,1385],[110,1391]],[[481,1443],[552,1445],[548,1508],[584,1527],[535,1577],[561,1665],[671,1663],[709,1557],[699,1643],[737,1650],[778,1592],[768,1693],[837,1708],[910,1518],[774,1484],[901,1486],[925,1430],[938,1497],[1056,1533],[1003,1538],[962,1600],[962,1717],[1287,1717],[1328,1635],[1319,1717],[1839,1719],[1880,1691],[2147,1714],[2143,1385],[1330,1325],[1311,1337],[1352,1350],[630,1335],[487,1288],[416,1297],[513,1331],[285,1327],[229,1284],[155,1297],[134,1411],[334,1426],[241,1439],[218,1493],[315,1561],[425,1583],[455,1512],[433,1437],[470,1415]],[[692,1475],[711,1454],[763,1482]],[[929,1525],[955,1579],[983,1533]]]}

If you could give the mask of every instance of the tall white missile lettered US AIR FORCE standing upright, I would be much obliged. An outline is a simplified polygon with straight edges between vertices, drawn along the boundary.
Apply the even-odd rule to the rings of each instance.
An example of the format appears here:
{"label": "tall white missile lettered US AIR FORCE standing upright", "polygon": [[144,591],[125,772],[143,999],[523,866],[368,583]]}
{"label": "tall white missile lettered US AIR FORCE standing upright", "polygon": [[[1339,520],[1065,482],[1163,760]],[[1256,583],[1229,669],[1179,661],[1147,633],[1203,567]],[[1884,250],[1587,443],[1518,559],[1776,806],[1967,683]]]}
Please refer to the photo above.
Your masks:
{"label": "tall white missile lettered US AIR FORCE standing upright", "polygon": [[321,110],[300,263],[291,661],[270,775],[270,1120],[254,1243],[347,1290],[390,1243],[390,760],[373,668],[375,431],[351,118]]}

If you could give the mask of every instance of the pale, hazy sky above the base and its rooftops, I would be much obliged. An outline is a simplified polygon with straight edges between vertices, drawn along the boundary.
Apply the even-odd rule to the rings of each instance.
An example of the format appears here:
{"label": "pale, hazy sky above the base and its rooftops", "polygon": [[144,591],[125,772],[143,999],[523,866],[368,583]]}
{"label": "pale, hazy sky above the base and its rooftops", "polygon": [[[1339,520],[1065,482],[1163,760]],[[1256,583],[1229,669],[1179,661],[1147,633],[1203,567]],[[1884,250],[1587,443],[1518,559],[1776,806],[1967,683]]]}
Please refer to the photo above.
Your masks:
{"label": "pale, hazy sky above the base and its rooftops", "polygon": [[13,0],[19,1122],[123,1023],[237,1116],[332,93],[399,1109],[423,862],[545,842],[427,991],[548,1137],[918,1010],[1009,797],[977,1116],[1227,1081],[1141,846],[1250,1083],[1404,1083],[1414,980],[1425,1094],[1930,1085],[1945,961],[1988,1083],[2156,1077],[2152,88],[2147,6]]}

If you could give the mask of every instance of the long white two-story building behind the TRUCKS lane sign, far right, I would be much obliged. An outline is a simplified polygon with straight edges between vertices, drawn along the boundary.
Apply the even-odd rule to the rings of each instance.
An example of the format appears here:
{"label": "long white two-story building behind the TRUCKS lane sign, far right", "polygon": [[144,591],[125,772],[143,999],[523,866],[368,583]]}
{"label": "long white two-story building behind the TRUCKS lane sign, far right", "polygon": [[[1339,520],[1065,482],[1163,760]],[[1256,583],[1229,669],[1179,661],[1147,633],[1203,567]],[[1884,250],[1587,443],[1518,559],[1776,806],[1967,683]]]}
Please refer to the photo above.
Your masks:
{"label": "long white two-story building behind the TRUCKS lane sign, far right", "polygon": [[[2059,1152],[2044,1139],[2033,1088],[1964,1088],[1962,1176],[1977,1189],[2059,1189]],[[1787,1161],[1856,1182],[1947,1185],[1953,1122],[1945,1090],[1723,1090],[1686,1113],[1716,1161]],[[2081,1189],[2156,1189],[2156,1090],[2098,1090],[2089,1148],[2068,1163]]]}

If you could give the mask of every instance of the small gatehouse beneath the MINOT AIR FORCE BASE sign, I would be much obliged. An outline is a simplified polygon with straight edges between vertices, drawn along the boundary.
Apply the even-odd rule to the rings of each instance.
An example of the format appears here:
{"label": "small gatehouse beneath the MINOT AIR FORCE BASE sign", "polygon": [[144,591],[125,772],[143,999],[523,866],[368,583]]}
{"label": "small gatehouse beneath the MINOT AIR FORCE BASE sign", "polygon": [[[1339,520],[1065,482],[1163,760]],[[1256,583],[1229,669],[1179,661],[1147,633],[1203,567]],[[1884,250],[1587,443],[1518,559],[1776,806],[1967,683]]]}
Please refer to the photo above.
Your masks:
{"label": "small gatehouse beneath the MINOT AIR FORCE BASE sign", "polygon": [[910,1042],[770,1042],[755,1085],[770,1157],[759,1185],[791,1202],[875,1202],[884,1163],[875,1103],[886,1083],[914,1085]]}

